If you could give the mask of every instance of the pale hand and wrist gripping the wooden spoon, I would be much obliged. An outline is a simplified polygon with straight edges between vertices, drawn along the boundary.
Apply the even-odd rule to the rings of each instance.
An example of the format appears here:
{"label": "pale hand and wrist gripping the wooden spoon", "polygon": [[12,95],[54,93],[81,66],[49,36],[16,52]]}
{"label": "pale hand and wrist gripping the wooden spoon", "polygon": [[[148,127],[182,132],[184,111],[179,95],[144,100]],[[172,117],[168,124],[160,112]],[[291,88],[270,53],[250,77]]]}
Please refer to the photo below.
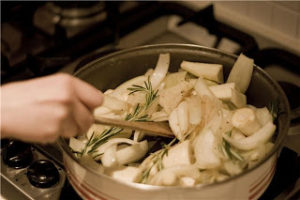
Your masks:
{"label": "pale hand and wrist gripping the wooden spoon", "polygon": [[5,84],[1,87],[1,138],[50,143],[84,133],[103,94],[67,74]]}

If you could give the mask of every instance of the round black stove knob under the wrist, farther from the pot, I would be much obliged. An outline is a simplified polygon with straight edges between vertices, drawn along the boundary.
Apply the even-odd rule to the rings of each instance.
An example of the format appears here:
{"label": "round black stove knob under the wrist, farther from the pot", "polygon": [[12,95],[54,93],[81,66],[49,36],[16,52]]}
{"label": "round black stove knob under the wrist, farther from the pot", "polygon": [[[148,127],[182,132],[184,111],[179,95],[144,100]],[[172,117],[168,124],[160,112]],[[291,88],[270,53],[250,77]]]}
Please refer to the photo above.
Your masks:
{"label": "round black stove knob under the wrist, farther from the pot", "polygon": [[15,169],[27,167],[33,159],[31,145],[11,140],[3,149],[2,159],[5,164]]}

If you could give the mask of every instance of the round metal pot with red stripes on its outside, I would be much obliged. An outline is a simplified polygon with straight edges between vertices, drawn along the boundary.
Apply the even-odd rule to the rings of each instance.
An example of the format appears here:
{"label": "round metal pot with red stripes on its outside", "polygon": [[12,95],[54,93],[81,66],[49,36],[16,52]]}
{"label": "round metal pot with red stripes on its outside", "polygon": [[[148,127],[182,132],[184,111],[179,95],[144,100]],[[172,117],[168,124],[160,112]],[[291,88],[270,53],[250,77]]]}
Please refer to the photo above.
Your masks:
{"label": "round metal pot with red stripes on its outside", "polygon": [[[160,53],[170,53],[169,71],[177,71],[183,60],[219,63],[228,76],[235,55],[196,45],[163,44],[136,47],[98,58],[81,68],[75,76],[100,90],[115,88],[122,82],[144,74],[156,65]],[[280,113],[274,148],[255,167],[214,184],[195,187],[164,187],[124,183],[83,166],[73,156],[67,139],[60,139],[64,164],[70,183],[84,199],[124,200],[189,200],[189,199],[257,199],[270,184],[275,172],[277,157],[289,127],[289,104],[280,86],[261,68],[254,67],[252,80],[246,93],[248,102],[256,107],[278,100]]]}

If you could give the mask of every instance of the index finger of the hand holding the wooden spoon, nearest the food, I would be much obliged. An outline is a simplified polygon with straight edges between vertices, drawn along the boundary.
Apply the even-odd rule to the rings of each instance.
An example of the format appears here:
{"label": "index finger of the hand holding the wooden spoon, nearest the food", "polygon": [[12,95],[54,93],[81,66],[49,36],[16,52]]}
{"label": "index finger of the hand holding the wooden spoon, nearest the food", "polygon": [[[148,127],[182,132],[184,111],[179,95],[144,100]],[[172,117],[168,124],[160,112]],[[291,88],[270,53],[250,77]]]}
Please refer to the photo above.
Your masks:
{"label": "index finger of the hand holding the wooden spoon, nearest the food", "polygon": [[103,102],[103,93],[92,85],[75,78],[74,79],[75,93],[79,100],[89,109],[100,106]]}

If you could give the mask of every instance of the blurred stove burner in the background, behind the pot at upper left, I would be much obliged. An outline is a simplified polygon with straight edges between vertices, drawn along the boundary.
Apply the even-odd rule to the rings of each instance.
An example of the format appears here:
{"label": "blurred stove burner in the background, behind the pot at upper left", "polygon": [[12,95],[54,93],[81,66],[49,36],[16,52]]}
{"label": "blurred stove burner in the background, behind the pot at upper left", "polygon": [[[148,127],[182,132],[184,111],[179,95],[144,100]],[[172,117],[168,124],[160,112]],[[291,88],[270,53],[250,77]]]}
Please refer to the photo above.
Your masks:
{"label": "blurred stove burner in the background, behind the pot at upper left", "polygon": [[49,35],[55,35],[60,27],[71,38],[104,21],[107,16],[104,9],[104,2],[49,2],[37,9],[33,22]]}

